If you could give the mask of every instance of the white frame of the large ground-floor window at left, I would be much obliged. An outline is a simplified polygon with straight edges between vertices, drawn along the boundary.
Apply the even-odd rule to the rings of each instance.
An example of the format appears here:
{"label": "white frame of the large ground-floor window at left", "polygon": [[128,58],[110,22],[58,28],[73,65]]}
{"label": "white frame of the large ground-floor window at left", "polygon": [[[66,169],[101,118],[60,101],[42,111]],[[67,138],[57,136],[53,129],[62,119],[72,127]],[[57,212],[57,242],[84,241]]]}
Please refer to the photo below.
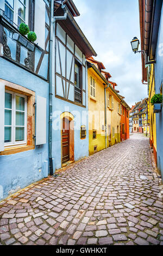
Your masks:
{"label": "white frame of the large ground-floor window at left", "polygon": [[[12,113],[11,113],[11,141],[10,142],[4,142],[5,147],[9,146],[15,146],[15,145],[23,145],[27,144],[27,96],[11,92],[8,90],[5,90],[6,93],[10,93],[12,95]],[[16,128],[16,96],[24,98],[24,140],[23,141],[15,141],[15,128]],[[6,108],[4,108],[6,109]],[[9,126],[4,126],[9,127]],[[18,126],[17,126],[18,127]],[[21,126],[20,126],[21,127]]]}

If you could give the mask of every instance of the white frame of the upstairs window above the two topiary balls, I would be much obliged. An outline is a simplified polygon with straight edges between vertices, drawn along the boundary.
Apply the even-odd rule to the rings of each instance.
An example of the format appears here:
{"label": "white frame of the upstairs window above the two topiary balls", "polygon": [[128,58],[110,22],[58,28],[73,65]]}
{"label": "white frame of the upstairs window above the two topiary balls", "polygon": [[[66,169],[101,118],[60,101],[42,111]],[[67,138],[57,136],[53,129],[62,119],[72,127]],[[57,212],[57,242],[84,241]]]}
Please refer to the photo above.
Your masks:
{"label": "white frame of the upstairs window above the two topiary balls", "polygon": [[[10,8],[9,5],[7,3],[5,3],[5,5],[7,5],[7,7],[9,9],[11,9],[14,13],[14,17],[13,17],[13,22],[18,26],[18,10],[17,10],[17,7],[18,7],[18,1],[20,1],[22,3],[21,0],[14,0],[14,9]],[[22,3],[23,4],[23,3]],[[24,5],[24,4],[23,4]],[[21,17],[20,19],[23,20],[24,23],[26,23],[28,25],[28,14],[29,14],[29,0],[26,0],[26,5],[24,5],[24,7],[26,7],[26,20],[23,20]]]}

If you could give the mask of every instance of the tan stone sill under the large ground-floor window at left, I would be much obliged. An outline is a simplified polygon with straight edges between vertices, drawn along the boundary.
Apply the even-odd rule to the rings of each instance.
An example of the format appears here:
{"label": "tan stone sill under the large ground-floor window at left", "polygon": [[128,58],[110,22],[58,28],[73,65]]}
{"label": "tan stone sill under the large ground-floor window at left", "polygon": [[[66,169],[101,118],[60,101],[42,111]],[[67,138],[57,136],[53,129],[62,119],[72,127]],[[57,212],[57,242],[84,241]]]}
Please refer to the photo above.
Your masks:
{"label": "tan stone sill under the large ground-floor window at left", "polygon": [[21,145],[21,146],[12,146],[12,147],[7,147],[4,149],[4,151],[0,152],[0,156],[8,156],[9,154],[16,154],[20,153],[23,151],[28,151],[28,150],[34,150],[35,146],[34,145]]}

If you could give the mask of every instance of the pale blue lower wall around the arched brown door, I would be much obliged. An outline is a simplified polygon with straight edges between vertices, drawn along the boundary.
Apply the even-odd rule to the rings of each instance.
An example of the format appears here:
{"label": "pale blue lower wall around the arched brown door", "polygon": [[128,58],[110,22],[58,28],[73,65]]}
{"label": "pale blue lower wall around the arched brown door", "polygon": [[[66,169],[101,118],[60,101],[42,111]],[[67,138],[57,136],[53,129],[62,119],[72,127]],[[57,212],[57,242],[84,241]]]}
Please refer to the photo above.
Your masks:
{"label": "pale blue lower wall around the arched brown door", "polygon": [[[86,73],[87,76],[87,73]],[[53,86],[53,95],[55,95]],[[55,112],[56,111],[56,112]],[[63,112],[70,112],[74,116],[74,160],[89,156],[89,125],[88,115],[82,120],[82,111],[88,111],[87,79],[86,79],[86,108],[53,97],[53,129],[52,129],[52,157],[55,159],[55,169],[61,168],[61,119]],[[57,113],[57,115],[55,115]],[[88,113],[87,113],[88,114]],[[80,117],[80,118],[79,118]],[[54,123],[58,120],[58,129],[54,129]],[[80,139],[80,126],[86,126],[86,139]]]}

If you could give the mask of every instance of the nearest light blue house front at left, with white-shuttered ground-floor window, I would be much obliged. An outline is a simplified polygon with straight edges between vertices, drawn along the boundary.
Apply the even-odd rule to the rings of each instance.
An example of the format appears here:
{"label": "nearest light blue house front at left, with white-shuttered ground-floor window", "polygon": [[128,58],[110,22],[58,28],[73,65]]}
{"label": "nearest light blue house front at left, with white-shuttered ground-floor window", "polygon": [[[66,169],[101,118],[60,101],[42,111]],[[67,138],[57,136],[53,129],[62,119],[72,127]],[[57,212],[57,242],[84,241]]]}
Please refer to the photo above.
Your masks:
{"label": "nearest light blue house front at left, with white-shuttered ground-floor window", "polygon": [[[34,31],[32,43],[19,31]],[[0,1],[0,200],[48,169],[49,1]]]}

